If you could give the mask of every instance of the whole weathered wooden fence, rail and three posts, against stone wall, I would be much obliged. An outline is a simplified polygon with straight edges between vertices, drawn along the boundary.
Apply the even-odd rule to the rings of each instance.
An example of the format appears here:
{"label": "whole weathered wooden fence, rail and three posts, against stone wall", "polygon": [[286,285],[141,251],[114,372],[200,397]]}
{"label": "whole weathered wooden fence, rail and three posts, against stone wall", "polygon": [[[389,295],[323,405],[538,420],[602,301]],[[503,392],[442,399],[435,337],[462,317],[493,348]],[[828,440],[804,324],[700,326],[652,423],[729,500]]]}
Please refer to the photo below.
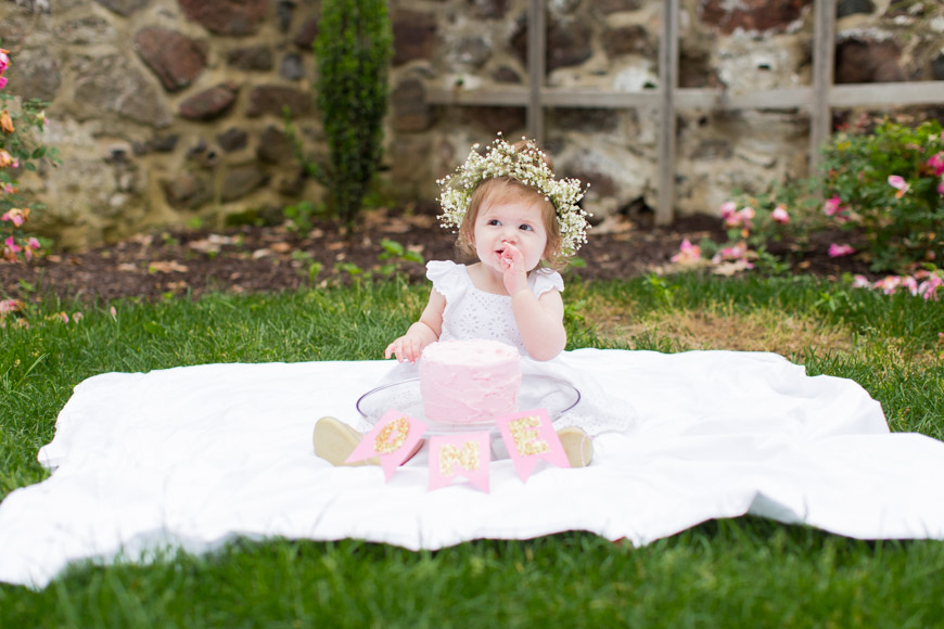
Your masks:
{"label": "whole weathered wooden fence, rail and three posts, against stone wall", "polygon": [[527,133],[544,140],[546,107],[658,107],[659,201],[655,221],[672,222],[675,201],[676,113],[686,110],[788,108],[809,114],[809,166],[814,171],[819,147],[830,132],[831,110],[853,106],[903,106],[944,103],[944,81],[889,82],[867,85],[832,84],[835,53],[835,0],[815,0],[813,36],[813,85],[753,92],[728,93],[716,88],[678,87],[678,0],[663,0],[659,43],[658,90],[621,92],[598,89],[546,87],[545,0],[531,0],[528,8],[526,87],[500,89],[429,88],[429,102],[442,105],[522,106],[527,111]]}

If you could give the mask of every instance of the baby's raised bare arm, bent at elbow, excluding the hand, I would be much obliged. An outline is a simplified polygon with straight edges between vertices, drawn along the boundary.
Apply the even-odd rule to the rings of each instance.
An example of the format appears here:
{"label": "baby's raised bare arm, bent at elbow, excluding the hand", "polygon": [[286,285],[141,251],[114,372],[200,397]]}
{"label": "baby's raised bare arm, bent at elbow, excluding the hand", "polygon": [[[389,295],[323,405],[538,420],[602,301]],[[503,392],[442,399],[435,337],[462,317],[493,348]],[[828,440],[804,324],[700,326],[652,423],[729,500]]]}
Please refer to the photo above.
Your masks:
{"label": "baby's raised bare arm, bent at elbow, excluding the hand", "polygon": [[530,288],[511,295],[511,310],[521,341],[535,360],[550,360],[567,344],[564,330],[564,301],[558,291],[536,297]]}

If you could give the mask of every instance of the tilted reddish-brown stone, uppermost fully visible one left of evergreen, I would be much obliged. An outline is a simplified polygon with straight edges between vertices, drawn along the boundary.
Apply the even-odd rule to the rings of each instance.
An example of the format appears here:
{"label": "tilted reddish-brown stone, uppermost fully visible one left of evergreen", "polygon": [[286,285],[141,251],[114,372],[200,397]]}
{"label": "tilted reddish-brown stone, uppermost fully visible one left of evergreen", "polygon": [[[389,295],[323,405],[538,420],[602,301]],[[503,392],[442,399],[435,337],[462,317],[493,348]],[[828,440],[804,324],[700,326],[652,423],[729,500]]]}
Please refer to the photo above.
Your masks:
{"label": "tilted reddish-brown stone, uppermost fully visible one left of evergreen", "polygon": [[205,44],[160,26],[136,33],[135,51],[168,92],[189,87],[206,67]]}

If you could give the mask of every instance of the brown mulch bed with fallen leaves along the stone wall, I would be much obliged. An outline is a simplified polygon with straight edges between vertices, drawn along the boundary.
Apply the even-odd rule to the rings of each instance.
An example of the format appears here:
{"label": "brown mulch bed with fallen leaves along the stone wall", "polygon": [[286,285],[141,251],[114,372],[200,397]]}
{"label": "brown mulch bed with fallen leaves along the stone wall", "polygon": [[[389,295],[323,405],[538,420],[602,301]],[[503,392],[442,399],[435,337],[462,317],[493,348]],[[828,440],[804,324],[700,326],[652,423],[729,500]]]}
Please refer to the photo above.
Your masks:
{"label": "brown mulch bed with fallen leaves along the stone wall", "polygon": [[[207,291],[235,293],[294,291],[347,281],[349,269],[379,272],[397,264],[410,281],[424,281],[421,264],[381,259],[384,239],[418,252],[423,259],[452,259],[454,236],[435,220],[435,210],[363,216],[361,228],[350,234],[332,223],[317,223],[305,234],[284,227],[240,227],[217,231],[169,231],[138,235],[109,246],[76,253],[52,254],[31,264],[0,262],[0,297],[28,300],[55,295],[85,301],[167,295],[199,297]],[[613,221],[590,231],[579,256],[586,266],[569,272],[586,280],[629,278],[661,272],[678,253],[684,239],[725,241],[715,217],[681,217],[656,227],[651,216]],[[822,238],[828,238],[825,234]],[[827,244],[817,247],[825,252]],[[312,265],[320,272],[311,277]],[[315,266],[317,268],[317,265]],[[864,264],[851,258],[806,256],[798,272],[839,277],[842,272],[868,275]]]}

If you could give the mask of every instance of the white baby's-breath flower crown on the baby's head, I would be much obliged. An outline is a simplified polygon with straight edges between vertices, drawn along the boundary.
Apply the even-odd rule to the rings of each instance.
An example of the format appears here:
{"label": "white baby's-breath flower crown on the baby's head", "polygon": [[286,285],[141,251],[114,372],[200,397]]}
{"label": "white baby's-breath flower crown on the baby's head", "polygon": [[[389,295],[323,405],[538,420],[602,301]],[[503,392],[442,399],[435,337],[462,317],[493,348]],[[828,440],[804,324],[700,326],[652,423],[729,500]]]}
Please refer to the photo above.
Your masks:
{"label": "white baby's-breath flower crown on the baby's head", "polygon": [[499,133],[484,156],[477,151],[479,144],[473,144],[465,164],[436,181],[443,191],[439,195],[443,206],[443,214],[438,217],[441,224],[458,230],[475,188],[486,179],[509,177],[533,188],[553,204],[561,232],[561,252],[571,256],[587,242],[590,227],[587,222],[589,215],[577,205],[584,196],[581,180],[554,179],[540,149],[531,140],[522,140],[525,145],[515,150]]}

